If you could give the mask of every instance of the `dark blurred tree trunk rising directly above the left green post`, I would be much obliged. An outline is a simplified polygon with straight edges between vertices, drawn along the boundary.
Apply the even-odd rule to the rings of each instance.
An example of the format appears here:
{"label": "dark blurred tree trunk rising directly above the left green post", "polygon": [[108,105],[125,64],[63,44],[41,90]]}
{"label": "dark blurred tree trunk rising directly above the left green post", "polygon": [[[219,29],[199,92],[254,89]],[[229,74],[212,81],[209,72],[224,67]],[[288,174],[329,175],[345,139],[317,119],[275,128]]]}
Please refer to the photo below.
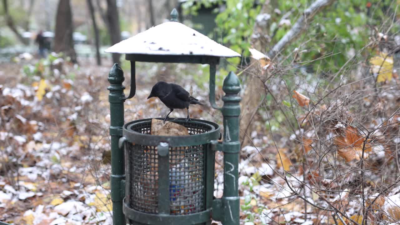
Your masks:
{"label": "dark blurred tree trunk rising directly above the left green post", "polygon": [[[118,17],[118,9],[116,0],[107,0],[107,26],[111,37],[111,44],[114,45],[121,41],[120,19]],[[112,62],[120,63],[120,54],[112,54]]]}

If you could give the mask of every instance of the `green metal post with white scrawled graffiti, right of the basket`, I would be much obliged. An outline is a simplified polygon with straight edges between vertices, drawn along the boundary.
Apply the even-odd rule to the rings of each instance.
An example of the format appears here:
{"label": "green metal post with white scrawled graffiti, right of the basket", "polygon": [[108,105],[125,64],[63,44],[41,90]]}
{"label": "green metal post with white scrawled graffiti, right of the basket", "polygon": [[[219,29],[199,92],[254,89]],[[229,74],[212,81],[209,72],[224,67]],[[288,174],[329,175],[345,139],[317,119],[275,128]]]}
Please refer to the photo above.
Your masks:
{"label": "green metal post with white scrawled graffiti, right of the basket", "polygon": [[238,166],[239,166],[239,116],[240,82],[234,72],[230,72],[224,80],[222,97],[224,106],[224,140],[222,151],[224,152],[224,194],[222,199],[213,201],[213,219],[219,220],[226,225],[239,225],[239,191],[238,191]]}

